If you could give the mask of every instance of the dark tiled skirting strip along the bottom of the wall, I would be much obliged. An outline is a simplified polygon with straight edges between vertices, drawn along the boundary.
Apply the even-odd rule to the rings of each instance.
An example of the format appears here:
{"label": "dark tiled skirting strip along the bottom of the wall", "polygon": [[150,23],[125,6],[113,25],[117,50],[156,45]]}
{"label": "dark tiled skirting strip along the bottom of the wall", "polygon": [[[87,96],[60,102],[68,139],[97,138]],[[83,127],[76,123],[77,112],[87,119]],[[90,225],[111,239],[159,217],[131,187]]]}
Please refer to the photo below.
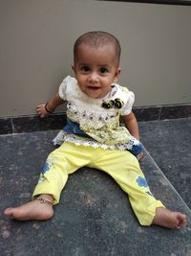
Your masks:
{"label": "dark tiled skirting strip along the bottom of the wall", "polygon": [[[187,118],[191,117],[191,104],[139,106],[133,111],[138,122]],[[36,115],[0,118],[0,134],[59,129],[65,124],[66,113],[53,114],[44,119]]]}

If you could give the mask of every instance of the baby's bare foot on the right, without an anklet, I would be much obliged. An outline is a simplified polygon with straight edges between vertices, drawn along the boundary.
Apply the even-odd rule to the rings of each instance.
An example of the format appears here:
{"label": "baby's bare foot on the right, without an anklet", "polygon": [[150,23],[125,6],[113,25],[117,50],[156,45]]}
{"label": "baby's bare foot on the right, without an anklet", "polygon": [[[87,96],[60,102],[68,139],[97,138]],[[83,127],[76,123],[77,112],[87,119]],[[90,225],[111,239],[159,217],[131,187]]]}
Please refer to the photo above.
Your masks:
{"label": "baby's bare foot on the right, without an anklet", "polygon": [[168,228],[180,228],[186,224],[186,216],[180,212],[171,212],[165,208],[157,208],[152,224]]}

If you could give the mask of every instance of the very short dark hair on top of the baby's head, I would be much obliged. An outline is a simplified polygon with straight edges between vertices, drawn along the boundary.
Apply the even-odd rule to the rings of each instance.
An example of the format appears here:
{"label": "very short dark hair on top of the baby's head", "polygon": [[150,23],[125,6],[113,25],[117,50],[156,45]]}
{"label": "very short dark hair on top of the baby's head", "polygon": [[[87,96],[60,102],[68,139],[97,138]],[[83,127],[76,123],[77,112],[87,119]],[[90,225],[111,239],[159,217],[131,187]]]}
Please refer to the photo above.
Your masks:
{"label": "very short dark hair on top of the baby's head", "polygon": [[77,47],[82,43],[88,43],[90,46],[93,47],[99,47],[107,43],[113,43],[116,47],[117,64],[119,64],[121,48],[116,36],[102,31],[92,31],[80,35],[74,43],[74,61],[76,57]]}

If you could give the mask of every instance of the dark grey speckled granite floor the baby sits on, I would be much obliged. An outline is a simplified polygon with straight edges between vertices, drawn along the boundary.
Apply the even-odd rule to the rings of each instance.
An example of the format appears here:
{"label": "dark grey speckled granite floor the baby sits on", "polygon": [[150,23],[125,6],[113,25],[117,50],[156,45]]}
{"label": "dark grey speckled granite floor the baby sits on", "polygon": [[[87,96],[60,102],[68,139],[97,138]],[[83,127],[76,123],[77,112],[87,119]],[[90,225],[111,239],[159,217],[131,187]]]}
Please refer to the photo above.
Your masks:
{"label": "dark grey speckled granite floor the baby sits on", "polygon": [[[186,184],[185,182],[190,178],[188,170],[190,170],[191,158],[187,144],[179,143],[183,150],[178,151],[175,142],[172,143],[172,147],[169,142],[170,136],[182,141],[178,137],[184,133],[185,127],[188,128],[184,133],[187,134],[185,139],[190,138],[190,119],[183,121],[183,128],[180,126],[182,121],[159,123],[160,133],[166,134],[167,129],[170,128],[166,143],[159,138],[159,135],[151,136],[153,131],[158,129],[157,123],[140,123],[142,141],[146,147],[141,168],[156,198],[161,199],[170,209],[187,214],[188,224],[180,230],[140,226],[127,196],[114,180],[100,171],[88,168],[83,168],[69,177],[60,203],[54,207],[52,220],[10,221],[3,215],[3,209],[30,200],[39,170],[48,153],[53,151],[51,140],[56,130],[0,136],[0,254],[3,256],[190,256],[191,211],[188,207],[190,201],[185,198],[185,203],[183,196],[180,197],[177,193],[181,187],[176,187],[176,183],[172,186],[170,183],[171,179],[172,183],[173,180],[176,181],[177,176],[179,181],[181,177],[181,184]],[[164,128],[162,124],[165,124]],[[175,128],[174,136],[172,127]],[[180,132],[177,132],[178,127],[181,129]],[[161,137],[164,139],[165,136],[161,135]],[[181,138],[184,136],[182,135]],[[160,148],[162,152],[168,151],[163,156],[161,150],[159,151],[160,143],[163,145]],[[166,144],[169,147],[165,148]],[[169,148],[174,149],[174,154],[172,153],[174,160],[171,162],[169,162],[171,158]],[[147,150],[154,159],[156,157],[158,164]],[[181,161],[180,176],[179,170],[174,173],[173,163],[180,162],[177,152],[180,155],[181,151],[184,152],[182,155],[186,160]],[[184,170],[182,162],[188,167],[185,168],[186,172],[182,172]],[[178,166],[178,163],[175,165]],[[171,170],[173,170],[168,175],[168,179],[165,176],[169,170],[167,166],[172,166]],[[163,167],[167,171],[163,172]],[[189,194],[188,185],[187,183],[185,190]],[[180,191],[183,191],[183,188]]]}

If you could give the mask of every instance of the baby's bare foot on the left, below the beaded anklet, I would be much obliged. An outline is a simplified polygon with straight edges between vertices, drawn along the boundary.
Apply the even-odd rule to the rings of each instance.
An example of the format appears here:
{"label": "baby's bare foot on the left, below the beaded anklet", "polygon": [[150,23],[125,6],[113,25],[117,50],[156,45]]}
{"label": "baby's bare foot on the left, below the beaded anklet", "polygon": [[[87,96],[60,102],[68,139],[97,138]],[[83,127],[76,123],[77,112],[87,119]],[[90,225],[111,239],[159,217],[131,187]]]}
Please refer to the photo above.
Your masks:
{"label": "baby's bare foot on the left, below the beaded anklet", "polygon": [[53,217],[53,205],[35,199],[18,207],[7,208],[4,214],[17,221],[48,220]]}

